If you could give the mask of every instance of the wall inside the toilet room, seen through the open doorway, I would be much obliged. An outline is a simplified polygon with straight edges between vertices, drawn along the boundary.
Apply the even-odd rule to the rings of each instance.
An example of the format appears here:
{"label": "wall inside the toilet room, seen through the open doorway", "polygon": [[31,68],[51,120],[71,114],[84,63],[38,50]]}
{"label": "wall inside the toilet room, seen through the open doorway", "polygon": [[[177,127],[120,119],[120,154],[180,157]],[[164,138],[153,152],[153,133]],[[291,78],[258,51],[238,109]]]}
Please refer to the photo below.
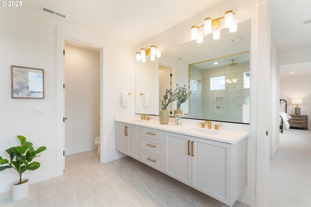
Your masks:
{"label": "wall inside the toilet room, seen through the open doorway", "polygon": [[96,149],[100,136],[100,51],[65,46],[65,155]]}

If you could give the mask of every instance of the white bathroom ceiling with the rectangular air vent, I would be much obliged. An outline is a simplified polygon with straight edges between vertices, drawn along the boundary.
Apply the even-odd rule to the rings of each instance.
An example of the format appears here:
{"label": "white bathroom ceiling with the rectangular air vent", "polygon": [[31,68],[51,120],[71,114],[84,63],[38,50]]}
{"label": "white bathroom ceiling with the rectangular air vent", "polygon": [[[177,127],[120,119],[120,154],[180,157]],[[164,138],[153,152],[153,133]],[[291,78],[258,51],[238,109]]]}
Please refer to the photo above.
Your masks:
{"label": "white bathroom ceiling with the rectangular air vent", "polygon": [[[220,1],[27,0],[23,1],[23,7],[138,45]],[[41,11],[41,5],[66,17]]]}

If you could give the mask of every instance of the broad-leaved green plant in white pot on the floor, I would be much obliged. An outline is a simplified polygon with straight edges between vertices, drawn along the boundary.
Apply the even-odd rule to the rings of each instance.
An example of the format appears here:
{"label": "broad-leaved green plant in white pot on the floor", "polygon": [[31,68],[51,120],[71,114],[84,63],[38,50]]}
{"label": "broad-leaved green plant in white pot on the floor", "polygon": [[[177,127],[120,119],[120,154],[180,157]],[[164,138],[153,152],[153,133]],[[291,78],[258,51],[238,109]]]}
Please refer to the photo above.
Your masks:
{"label": "broad-leaved green plant in white pot on the floor", "polygon": [[46,147],[39,147],[37,150],[34,149],[33,143],[26,141],[26,138],[18,135],[17,138],[20,141],[21,146],[11,147],[7,149],[7,152],[10,155],[10,161],[8,159],[3,159],[0,156],[0,171],[5,169],[13,168],[19,174],[19,181],[13,183],[12,185],[12,200],[17,201],[28,196],[29,193],[29,180],[22,180],[21,175],[26,170],[36,170],[40,167],[39,162],[31,162],[33,158],[40,156],[37,155],[44,150]]}

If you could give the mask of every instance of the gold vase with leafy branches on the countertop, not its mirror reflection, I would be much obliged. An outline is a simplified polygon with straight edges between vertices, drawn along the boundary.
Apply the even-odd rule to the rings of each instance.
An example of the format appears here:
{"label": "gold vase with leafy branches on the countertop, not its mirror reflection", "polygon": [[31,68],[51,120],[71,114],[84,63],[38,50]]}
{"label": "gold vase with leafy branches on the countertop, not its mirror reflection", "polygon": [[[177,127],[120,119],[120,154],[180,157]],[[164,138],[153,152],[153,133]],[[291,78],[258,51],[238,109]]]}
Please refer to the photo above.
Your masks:
{"label": "gold vase with leafy branches on the countertop, not its mirror reflection", "polygon": [[[178,84],[177,84],[178,86]],[[163,96],[163,100],[161,102],[161,109],[159,111],[159,121],[161,124],[168,124],[170,121],[170,112],[167,110],[169,104],[173,103],[177,97],[177,87],[174,91],[172,91],[172,87],[170,89],[166,89],[165,95]]]}

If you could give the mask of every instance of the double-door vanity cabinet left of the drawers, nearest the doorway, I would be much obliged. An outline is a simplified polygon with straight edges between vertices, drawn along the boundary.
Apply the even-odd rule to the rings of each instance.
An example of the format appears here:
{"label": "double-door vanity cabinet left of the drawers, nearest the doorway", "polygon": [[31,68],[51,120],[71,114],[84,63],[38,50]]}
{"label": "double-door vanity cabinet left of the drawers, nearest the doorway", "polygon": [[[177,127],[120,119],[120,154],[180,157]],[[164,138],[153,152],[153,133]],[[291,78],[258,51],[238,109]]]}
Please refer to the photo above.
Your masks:
{"label": "double-door vanity cabinet left of the drawers, nearest the doorway", "polygon": [[116,149],[140,161],[140,127],[116,122]]}

